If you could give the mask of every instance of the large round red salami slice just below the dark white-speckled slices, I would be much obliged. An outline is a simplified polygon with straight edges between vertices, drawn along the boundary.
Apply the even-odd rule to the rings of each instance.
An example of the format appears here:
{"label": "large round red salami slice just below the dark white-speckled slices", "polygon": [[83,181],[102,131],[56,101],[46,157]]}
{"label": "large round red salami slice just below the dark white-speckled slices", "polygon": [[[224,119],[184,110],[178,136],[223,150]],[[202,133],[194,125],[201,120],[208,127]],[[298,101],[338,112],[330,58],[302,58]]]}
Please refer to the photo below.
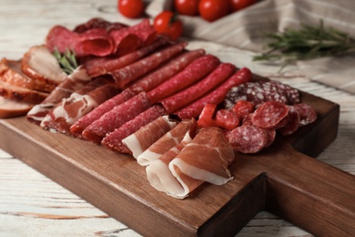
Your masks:
{"label": "large round red salami slice just below the dark white-speckled slices", "polygon": [[261,104],[257,108],[251,121],[261,129],[277,129],[283,120],[289,114],[289,107],[278,101],[269,101]]}

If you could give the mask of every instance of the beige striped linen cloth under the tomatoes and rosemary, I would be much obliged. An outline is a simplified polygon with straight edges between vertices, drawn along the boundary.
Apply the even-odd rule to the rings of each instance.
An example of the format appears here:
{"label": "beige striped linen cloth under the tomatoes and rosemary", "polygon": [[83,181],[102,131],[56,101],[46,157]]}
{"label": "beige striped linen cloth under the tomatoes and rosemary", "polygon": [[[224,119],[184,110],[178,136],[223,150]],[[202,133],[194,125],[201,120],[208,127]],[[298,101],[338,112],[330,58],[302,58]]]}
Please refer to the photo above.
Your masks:
{"label": "beige striped linen cloth under the tomatoes and rosemary", "polygon": [[[147,14],[171,9],[173,1],[155,0]],[[355,0],[262,0],[255,5],[208,23],[198,16],[180,15],[184,36],[261,52],[265,35],[300,24],[332,26],[355,38]],[[299,61],[299,69],[312,80],[355,94],[355,54]]]}

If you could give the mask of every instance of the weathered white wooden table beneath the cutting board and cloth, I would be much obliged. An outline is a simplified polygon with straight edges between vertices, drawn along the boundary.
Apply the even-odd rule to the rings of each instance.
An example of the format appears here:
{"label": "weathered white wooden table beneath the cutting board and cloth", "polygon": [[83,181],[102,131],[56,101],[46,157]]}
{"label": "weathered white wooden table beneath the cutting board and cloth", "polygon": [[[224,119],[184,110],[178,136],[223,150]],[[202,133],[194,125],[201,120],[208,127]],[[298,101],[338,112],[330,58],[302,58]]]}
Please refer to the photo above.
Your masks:
{"label": "weathered white wooden table beneath the cutting board and cloth", "polygon": [[[116,0],[0,0],[0,57],[17,59],[44,43],[51,26],[72,28],[91,17],[134,24],[117,13]],[[319,156],[355,174],[355,96],[303,77],[297,67],[278,75],[279,67],[252,62],[252,52],[190,40],[189,48],[209,53],[253,72],[282,81],[340,104],[338,138]],[[355,78],[354,78],[355,79]],[[2,136],[0,134],[0,136]],[[355,199],[355,197],[354,197]],[[0,236],[138,236],[124,224],[80,199],[54,181],[0,150]],[[273,214],[262,211],[238,236],[310,236]]]}

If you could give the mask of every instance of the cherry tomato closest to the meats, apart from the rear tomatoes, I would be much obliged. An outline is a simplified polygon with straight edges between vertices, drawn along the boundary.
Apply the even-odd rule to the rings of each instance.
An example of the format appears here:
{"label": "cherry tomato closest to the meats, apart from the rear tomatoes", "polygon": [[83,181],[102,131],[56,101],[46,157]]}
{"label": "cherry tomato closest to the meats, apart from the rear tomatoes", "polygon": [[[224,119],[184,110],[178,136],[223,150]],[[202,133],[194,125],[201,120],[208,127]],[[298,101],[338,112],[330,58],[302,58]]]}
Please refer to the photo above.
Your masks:
{"label": "cherry tomato closest to the meats, apart from the rear tomatoes", "polygon": [[154,18],[154,28],[158,34],[166,35],[172,40],[181,36],[183,31],[182,22],[171,11],[163,11]]}

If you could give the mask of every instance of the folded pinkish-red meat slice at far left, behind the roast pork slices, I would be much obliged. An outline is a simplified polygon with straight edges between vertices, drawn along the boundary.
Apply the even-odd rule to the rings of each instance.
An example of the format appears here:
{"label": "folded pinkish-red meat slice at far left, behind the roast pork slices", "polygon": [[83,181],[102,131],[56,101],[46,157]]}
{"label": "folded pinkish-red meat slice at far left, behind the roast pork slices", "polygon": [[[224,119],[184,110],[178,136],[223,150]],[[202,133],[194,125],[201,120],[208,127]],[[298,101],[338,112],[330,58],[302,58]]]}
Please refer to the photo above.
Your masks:
{"label": "folded pinkish-red meat slice at far left, behind the roast pork slices", "polygon": [[76,57],[98,56],[105,57],[114,51],[114,43],[103,28],[94,28],[78,34],[64,26],[54,26],[46,36],[46,47],[60,53],[72,49]]}

